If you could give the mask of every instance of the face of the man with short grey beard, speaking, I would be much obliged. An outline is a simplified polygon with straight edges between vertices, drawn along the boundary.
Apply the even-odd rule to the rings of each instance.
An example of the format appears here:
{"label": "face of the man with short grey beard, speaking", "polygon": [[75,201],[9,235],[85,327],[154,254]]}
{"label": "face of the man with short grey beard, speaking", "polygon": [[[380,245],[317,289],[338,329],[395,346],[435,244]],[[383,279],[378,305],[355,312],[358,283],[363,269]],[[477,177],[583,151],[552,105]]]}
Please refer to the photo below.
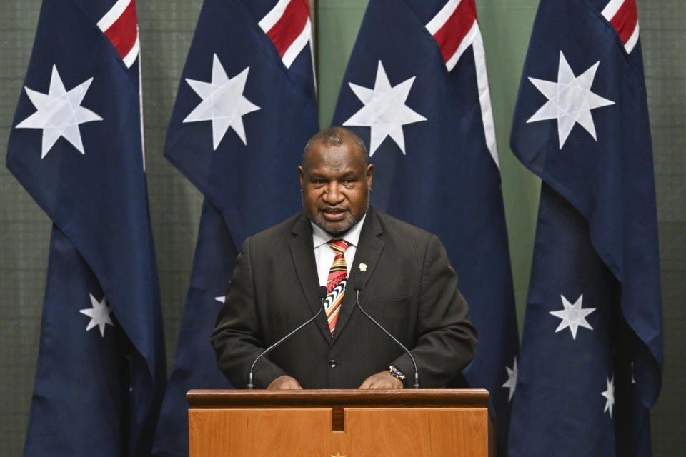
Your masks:
{"label": "face of the man with short grey beard, speaking", "polygon": [[352,141],[317,143],[298,167],[302,206],[309,220],[334,238],[357,224],[369,207],[372,165]]}

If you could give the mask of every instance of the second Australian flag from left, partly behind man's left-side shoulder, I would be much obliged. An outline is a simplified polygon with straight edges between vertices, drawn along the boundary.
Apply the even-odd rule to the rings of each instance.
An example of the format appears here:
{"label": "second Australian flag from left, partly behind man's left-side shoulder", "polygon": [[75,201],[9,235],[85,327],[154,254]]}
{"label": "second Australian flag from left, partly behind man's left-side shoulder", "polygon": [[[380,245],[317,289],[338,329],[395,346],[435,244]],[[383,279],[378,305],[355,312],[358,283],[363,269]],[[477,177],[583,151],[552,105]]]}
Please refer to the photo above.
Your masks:
{"label": "second Australian flag from left, partly behind man's left-side shoulder", "polygon": [[308,0],[204,1],[164,151],[205,199],[158,455],[187,455],[189,389],[232,387],[209,335],[238,248],[302,209],[297,165],[318,130],[312,63]]}

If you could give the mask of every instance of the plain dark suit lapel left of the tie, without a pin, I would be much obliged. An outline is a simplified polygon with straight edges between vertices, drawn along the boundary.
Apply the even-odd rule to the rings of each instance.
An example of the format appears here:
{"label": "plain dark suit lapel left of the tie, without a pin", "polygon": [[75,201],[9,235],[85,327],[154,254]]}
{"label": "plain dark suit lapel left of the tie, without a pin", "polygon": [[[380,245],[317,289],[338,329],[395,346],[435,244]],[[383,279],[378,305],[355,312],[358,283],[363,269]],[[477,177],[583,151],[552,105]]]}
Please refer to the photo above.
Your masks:
{"label": "plain dark suit lapel left of the tie, without a pin", "polygon": [[[307,305],[316,313],[322,306],[319,299],[319,280],[317,279],[317,263],[314,261],[314,248],[312,247],[312,226],[304,214],[293,225],[294,238],[289,242],[289,249],[293,258],[293,266],[300,281],[302,292],[307,298]],[[315,323],[327,341],[331,341],[331,332],[327,323],[327,316],[315,319]]]}

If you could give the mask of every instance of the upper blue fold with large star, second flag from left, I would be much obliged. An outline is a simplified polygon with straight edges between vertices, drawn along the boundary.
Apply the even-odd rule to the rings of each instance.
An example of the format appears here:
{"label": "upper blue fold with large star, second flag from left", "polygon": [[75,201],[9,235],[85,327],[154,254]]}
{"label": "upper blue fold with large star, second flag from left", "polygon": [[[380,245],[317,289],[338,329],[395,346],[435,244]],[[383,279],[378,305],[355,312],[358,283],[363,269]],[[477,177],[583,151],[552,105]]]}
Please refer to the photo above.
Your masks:
{"label": "upper blue fold with large star, second flag from left", "polygon": [[[296,170],[318,129],[309,41],[287,67],[259,25],[274,6],[204,1],[164,146],[238,246],[302,209]],[[275,27],[301,17],[289,10]]]}

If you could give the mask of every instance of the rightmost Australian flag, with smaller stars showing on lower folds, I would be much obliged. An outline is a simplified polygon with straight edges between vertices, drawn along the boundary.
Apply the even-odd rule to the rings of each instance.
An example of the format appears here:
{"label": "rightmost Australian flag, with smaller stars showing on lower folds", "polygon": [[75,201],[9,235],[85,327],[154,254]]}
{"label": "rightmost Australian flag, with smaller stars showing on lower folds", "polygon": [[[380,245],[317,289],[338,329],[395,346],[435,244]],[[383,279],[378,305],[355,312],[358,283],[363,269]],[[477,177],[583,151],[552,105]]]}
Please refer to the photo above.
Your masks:
{"label": "rightmost Australian flag, with smaller stars showing on lower folds", "polygon": [[662,317],[635,1],[541,1],[511,141],[543,182],[509,454],[650,456]]}

